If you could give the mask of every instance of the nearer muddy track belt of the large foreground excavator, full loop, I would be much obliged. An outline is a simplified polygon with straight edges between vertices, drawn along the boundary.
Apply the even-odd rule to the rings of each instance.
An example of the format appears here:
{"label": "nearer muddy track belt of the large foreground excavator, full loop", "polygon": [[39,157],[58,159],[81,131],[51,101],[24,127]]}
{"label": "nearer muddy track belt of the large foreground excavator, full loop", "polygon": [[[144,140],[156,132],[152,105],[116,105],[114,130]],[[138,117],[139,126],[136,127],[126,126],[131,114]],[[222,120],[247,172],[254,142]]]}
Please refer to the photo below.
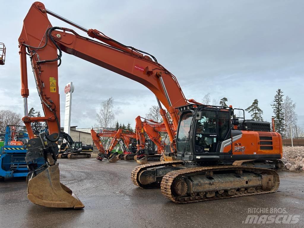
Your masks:
{"label": "nearer muddy track belt of the large foreground excavator, full loop", "polygon": [[[250,172],[264,172],[268,174],[272,174],[274,177],[274,186],[271,188],[269,191],[264,191],[264,192],[255,192],[255,193],[245,193],[245,194],[239,194],[239,195],[215,195],[214,197],[208,197],[208,198],[200,198],[200,196],[195,196],[195,197],[190,197],[187,196],[185,198],[188,198],[179,201],[178,197],[180,196],[174,196],[173,193],[171,192],[171,185],[174,182],[175,178],[181,177],[183,175],[191,175],[195,174],[197,172],[206,172],[206,171],[219,171],[219,170],[245,170],[245,171],[250,171]],[[167,198],[170,199],[173,202],[177,203],[192,203],[192,202],[202,202],[202,201],[209,201],[209,200],[216,200],[216,199],[227,199],[227,198],[235,198],[235,197],[241,197],[241,196],[248,196],[248,195],[261,195],[261,194],[266,194],[266,193],[272,193],[275,192],[280,184],[280,179],[278,176],[278,173],[274,170],[271,169],[265,169],[265,168],[254,168],[254,167],[244,167],[244,166],[235,166],[235,165],[229,165],[229,166],[213,166],[213,167],[195,167],[195,168],[185,168],[185,169],[180,169],[176,171],[171,171],[167,173],[162,181],[161,181],[161,193]],[[195,198],[195,199],[190,199],[190,198]]]}

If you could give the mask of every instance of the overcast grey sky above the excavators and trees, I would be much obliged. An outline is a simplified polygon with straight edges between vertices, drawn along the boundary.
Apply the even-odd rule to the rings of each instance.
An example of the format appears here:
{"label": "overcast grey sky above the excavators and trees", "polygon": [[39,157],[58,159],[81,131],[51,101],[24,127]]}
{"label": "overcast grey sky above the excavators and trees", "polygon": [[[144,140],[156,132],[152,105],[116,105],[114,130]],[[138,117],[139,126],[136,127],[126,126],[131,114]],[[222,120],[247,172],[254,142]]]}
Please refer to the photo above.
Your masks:
{"label": "overcast grey sky above the excavators and trees", "polygon": [[[6,62],[0,66],[0,109],[23,116],[18,38],[33,1],[1,3],[0,42]],[[304,124],[303,1],[43,1],[46,8],[121,43],[154,55],[178,79],[186,98],[201,102],[206,93],[228,105],[247,108],[259,100],[264,120],[278,88],[296,102]],[[49,15],[53,26],[72,26]],[[76,28],[79,34],[86,34]],[[28,61],[28,107],[42,110]],[[136,81],[69,54],[59,67],[61,126],[64,86],[73,81],[71,125],[91,127],[100,103],[114,98],[116,119],[135,125],[157,105],[150,90]],[[250,116],[247,114],[248,119]],[[302,125],[304,126],[304,125]]]}

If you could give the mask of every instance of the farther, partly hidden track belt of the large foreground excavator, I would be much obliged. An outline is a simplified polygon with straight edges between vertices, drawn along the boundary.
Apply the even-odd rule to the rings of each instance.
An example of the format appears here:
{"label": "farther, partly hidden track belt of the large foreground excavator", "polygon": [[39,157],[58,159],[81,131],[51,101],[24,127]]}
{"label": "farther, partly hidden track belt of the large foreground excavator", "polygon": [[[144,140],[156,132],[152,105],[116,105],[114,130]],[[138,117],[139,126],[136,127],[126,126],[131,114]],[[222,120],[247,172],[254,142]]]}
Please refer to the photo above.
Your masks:
{"label": "farther, partly hidden track belt of the large foreground excavator", "polygon": [[137,180],[137,175],[140,173],[140,171],[143,171],[148,168],[154,168],[158,166],[164,166],[164,165],[179,165],[179,164],[184,164],[182,161],[167,161],[167,162],[155,162],[152,164],[145,164],[145,165],[138,165],[136,166],[131,173],[131,181],[133,182],[134,185],[140,187],[140,188],[157,188],[159,187],[159,184],[150,184],[150,185],[142,185],[138,182]]}

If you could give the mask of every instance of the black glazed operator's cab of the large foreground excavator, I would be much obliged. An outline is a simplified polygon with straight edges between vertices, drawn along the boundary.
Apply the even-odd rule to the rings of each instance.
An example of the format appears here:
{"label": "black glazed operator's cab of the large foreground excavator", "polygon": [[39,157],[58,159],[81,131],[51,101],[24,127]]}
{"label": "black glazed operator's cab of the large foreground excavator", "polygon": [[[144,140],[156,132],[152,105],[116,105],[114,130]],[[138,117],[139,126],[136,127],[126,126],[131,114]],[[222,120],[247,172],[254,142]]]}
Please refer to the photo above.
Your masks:
{"label": "black glazed operator's cab of the large foreground excavator", "polygon": [[[216,161],[226,144],[231,152],[232,108],[187,105],[180,108],[177,134],[178,159],[186,161]],[[197,106],[197,105],[195,105]]]}

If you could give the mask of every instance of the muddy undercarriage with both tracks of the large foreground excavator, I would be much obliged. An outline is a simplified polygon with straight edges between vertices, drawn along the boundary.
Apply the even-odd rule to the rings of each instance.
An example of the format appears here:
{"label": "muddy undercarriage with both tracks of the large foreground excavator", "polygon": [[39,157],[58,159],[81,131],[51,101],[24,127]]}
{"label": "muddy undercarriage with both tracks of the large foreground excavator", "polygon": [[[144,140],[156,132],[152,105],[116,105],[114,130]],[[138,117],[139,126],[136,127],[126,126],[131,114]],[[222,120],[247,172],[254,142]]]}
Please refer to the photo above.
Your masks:
{"label": "muddy undercarriage with both tracks of the large foreground excavator", "polygon": [[275,170],[243,165],[188,168],[183,161],[157,162],[133,169],[132,182],[140,188],[161,188],[173,202],[190,203],[275,192],[280,180]]}

